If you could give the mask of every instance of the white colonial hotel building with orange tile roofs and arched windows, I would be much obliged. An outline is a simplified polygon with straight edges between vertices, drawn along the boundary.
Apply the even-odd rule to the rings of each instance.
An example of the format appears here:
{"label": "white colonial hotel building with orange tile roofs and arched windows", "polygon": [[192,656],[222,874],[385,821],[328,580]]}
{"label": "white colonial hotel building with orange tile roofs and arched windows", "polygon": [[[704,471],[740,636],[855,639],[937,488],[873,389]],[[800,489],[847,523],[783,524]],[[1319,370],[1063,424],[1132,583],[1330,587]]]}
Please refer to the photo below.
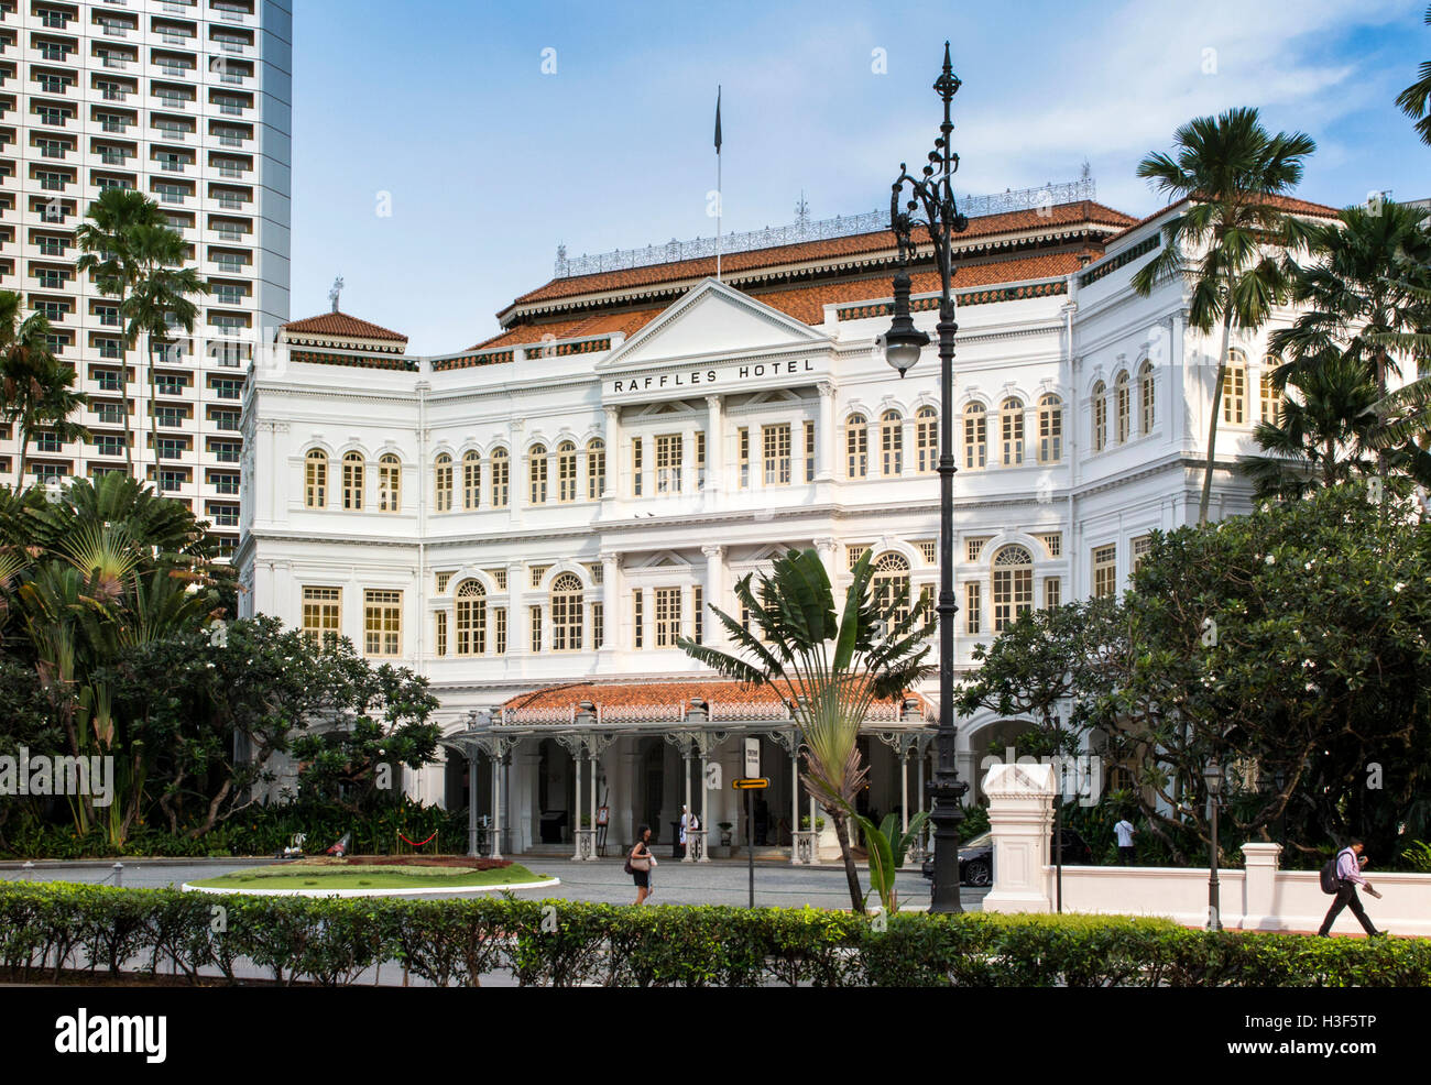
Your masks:
{"label": "white colonial hotel building with orange tile roofs and arched windows", "polygon": [[[1188,328],[1182,283],[1129,286],[1179,208],[1133,222],[1090,196],[996,198],[956,239],[962,667],[1022,610],[1116,591],[1151,531],[1196,520],[1218,342]],[[721,822],[743,836],[728,786],[700,784],[713,762],[740,776],[757,734],[757,829],[809,855],[784,706],[675,637],[714,641],[707,607],[733,610],[737,578],[788,547],[817,548],[837,590],[866,550],[881,578],[936,590],[937,356],[900,379],[876,346],[893,235],[778,233],[731,239],[721,281],[674,243],[612,271],[561,259],[499,335],[451,355],[341,312],[290,322],[250,372],[245,613],[428,676],[467,739],[409,790],[464,804],[456,750],[475,753],[505,849],[572,840],[598,806],[612,843],[641,822],[670,840],[688,797],[711,846]],[[933,332],[932,261],[913,278]],[[1215,517],[1246,508],[1234,459],[1275,409],[1266,334],[1235,342]],[[936,689],[866,727],[880,814],[923,804]],[[962,777],[1026,727],[960,720]]]}

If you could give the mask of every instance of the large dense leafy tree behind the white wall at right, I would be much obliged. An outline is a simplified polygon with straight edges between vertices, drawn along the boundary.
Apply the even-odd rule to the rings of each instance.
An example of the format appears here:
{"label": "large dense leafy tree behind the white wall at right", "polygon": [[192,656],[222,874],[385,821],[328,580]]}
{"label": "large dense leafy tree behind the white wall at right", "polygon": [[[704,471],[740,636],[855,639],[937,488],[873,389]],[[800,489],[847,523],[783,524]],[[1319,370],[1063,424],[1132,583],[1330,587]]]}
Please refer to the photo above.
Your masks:
{"label": "large dense leafy tree behind the white wall at right", "polygon": [[1234,769],[1234,835],[1281,826],[1312,853],[1361,832],[1394,855],[1431,786],[1431,525],[1394,490],[1391,515],[1344,484],[1155,535],[1089,721],[1173,855],[1208,839],[1212,756]]}

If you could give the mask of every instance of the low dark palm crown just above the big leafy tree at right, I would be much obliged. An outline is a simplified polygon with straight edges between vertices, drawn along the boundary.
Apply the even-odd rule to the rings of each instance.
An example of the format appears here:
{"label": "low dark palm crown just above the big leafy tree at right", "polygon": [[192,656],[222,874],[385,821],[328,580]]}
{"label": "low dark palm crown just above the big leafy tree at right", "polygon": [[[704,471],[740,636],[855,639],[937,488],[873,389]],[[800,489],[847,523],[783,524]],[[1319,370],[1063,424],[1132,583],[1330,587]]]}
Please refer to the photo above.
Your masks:
{"label": "low dark palm crown just above the big leafy tree at right", "polygon": [[1279,417],[1258,422],[1252,437],[1268,455],[1242,458],[1258,500],[1292,500],[1347,482],[1374,468],[1369,455],[1381,398],[1367,371],[1335,349],[1321,364],[1294,372]]}

